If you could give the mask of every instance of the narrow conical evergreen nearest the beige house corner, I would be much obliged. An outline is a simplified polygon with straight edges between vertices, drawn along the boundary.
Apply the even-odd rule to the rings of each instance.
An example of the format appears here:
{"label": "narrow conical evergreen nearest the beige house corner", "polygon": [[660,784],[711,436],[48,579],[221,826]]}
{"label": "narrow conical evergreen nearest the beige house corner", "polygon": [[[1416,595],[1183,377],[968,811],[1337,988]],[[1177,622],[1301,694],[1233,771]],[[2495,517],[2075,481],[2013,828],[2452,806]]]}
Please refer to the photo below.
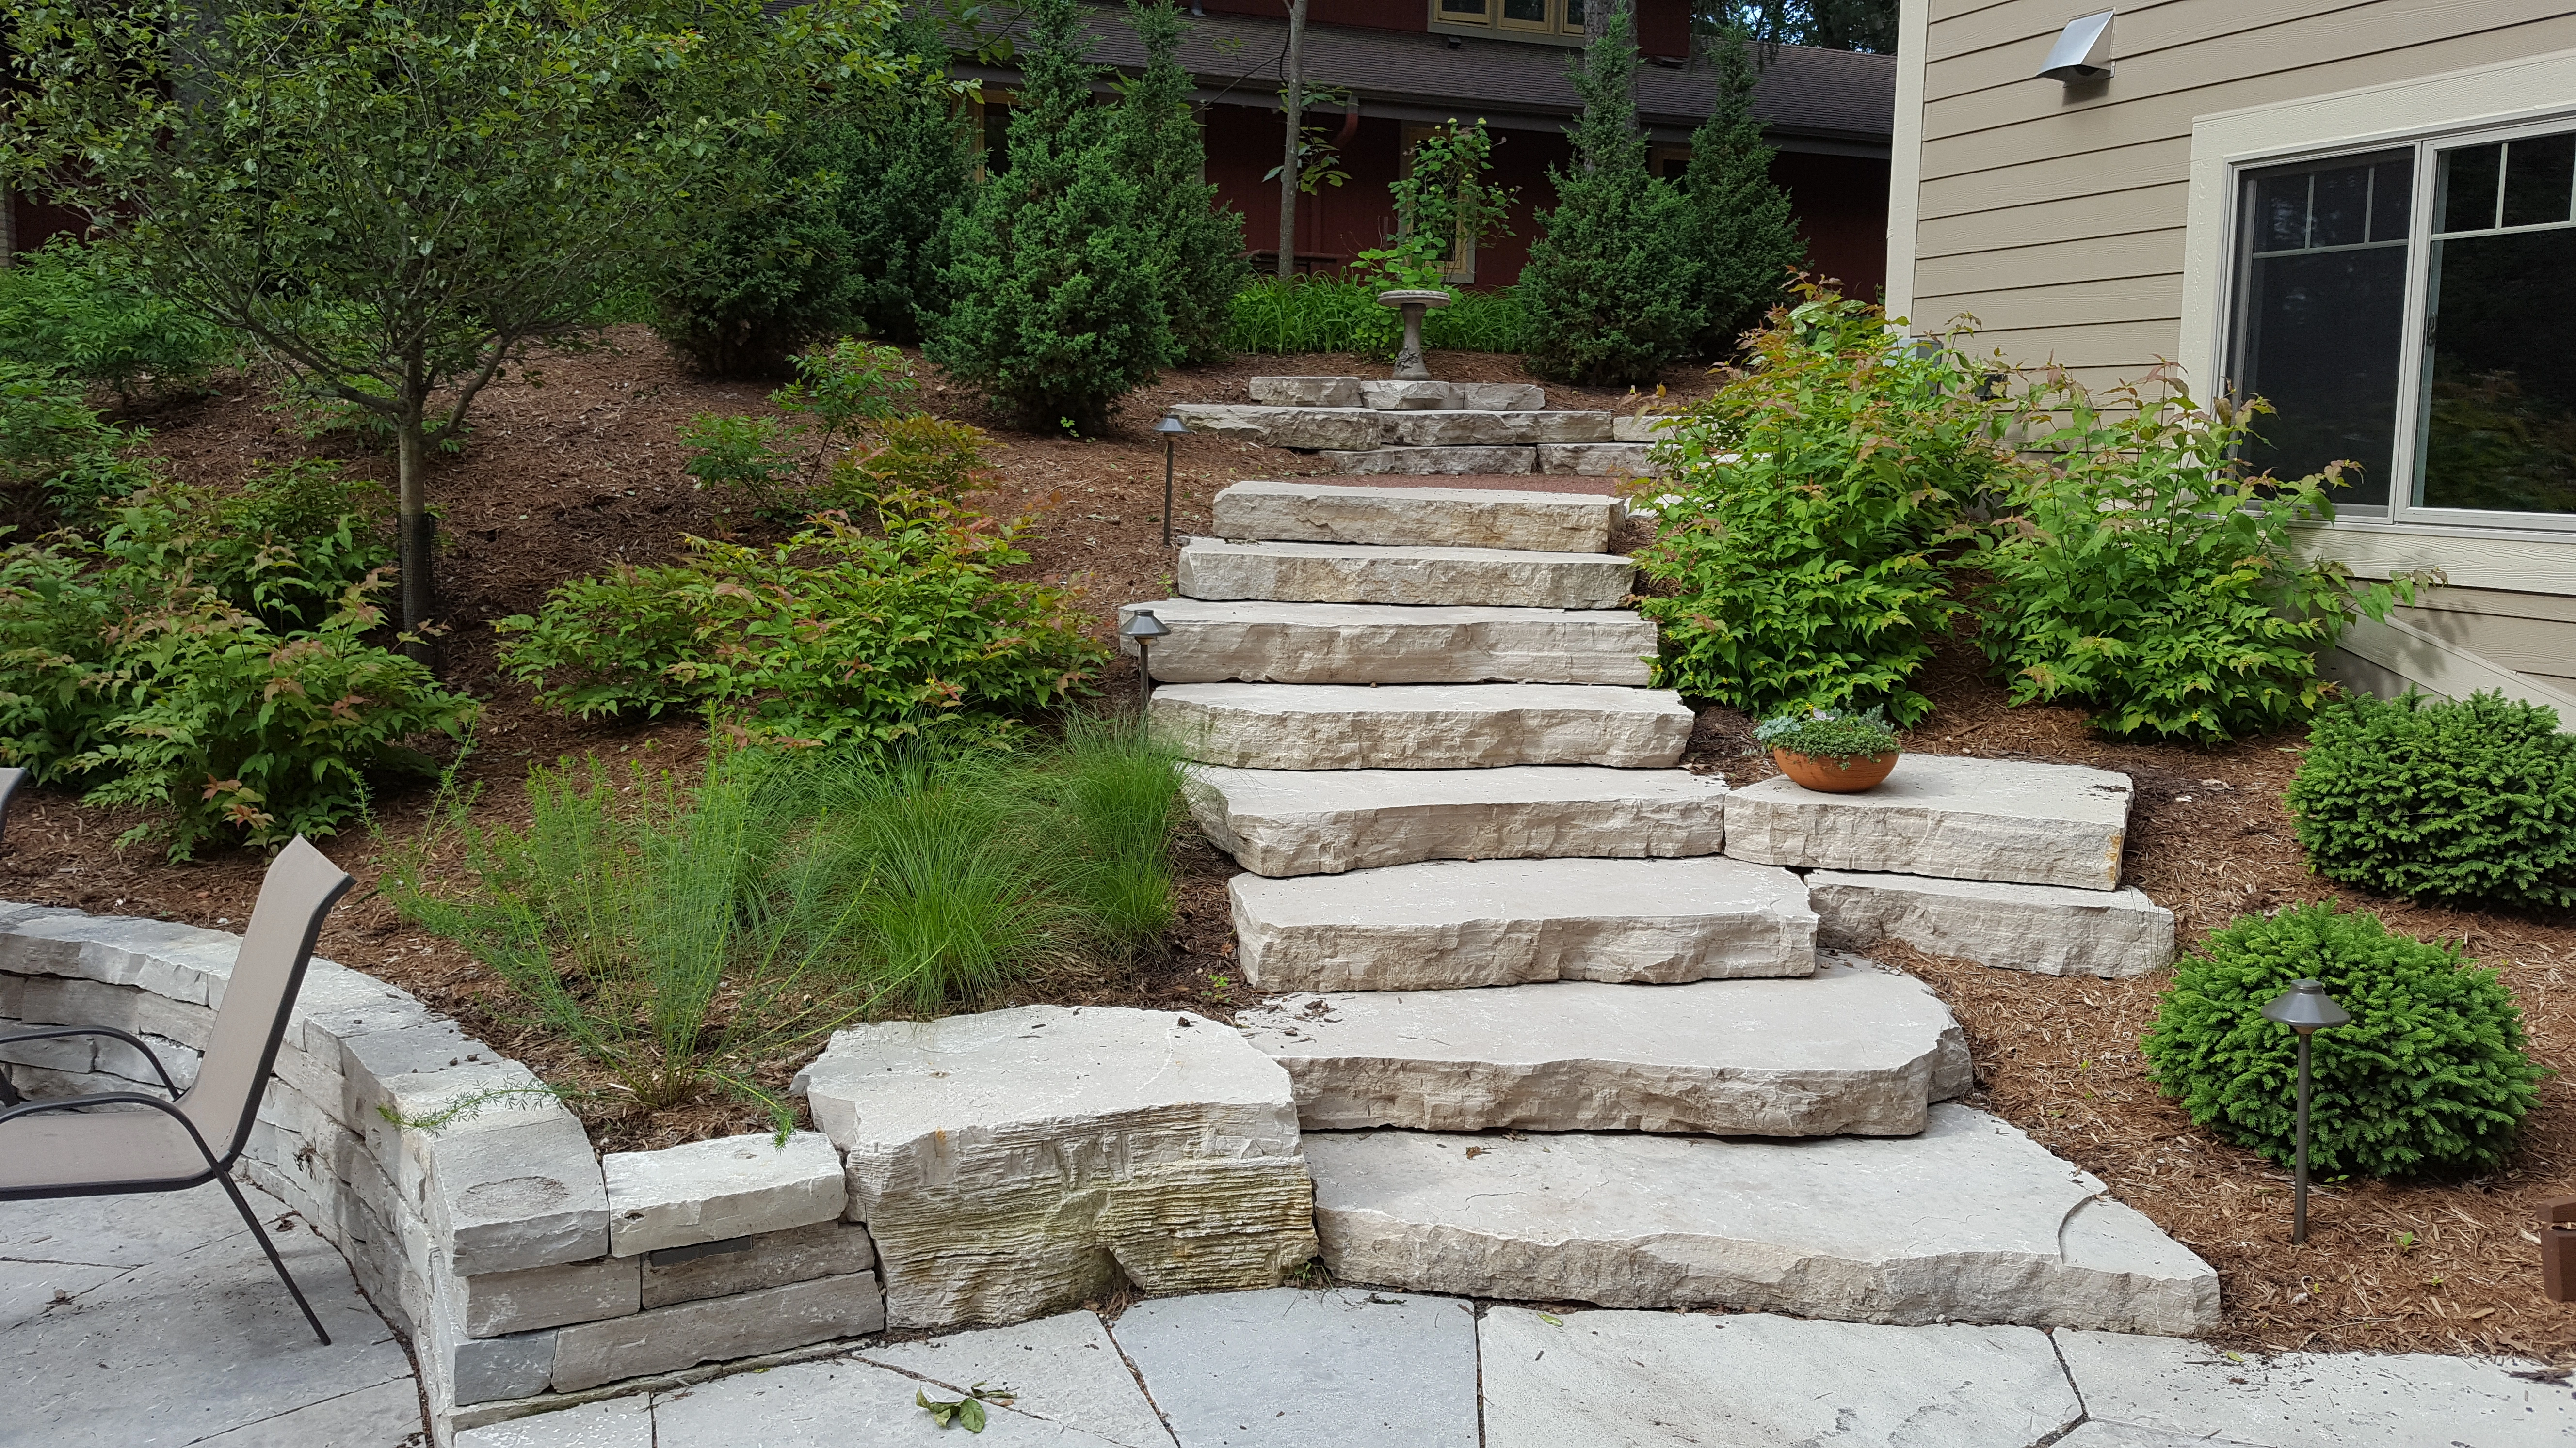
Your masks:
{"label": "narrow conical evergreen nearest the beige house corner", "polygon": [[1705,307],[1700,356],[1728,358],[1736,338],[1788,294],[1790,271],[1806,265],[1806,240],[1788,191],[1770,178],[1772,149],[1754,119],[1752,41],[1728,31],[1713,54],[1718,103],[1690,137],[1687,206],[1672,250],[1700,271],[1692,278]]}

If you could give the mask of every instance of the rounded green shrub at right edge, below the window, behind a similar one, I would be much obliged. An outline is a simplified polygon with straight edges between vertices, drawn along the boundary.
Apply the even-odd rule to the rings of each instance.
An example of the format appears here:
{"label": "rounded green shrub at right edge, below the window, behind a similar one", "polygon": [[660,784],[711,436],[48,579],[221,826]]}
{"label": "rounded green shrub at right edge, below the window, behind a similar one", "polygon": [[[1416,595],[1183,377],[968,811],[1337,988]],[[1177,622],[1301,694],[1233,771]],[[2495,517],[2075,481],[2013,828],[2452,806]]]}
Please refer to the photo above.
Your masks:
{"label": "rounded green shrub at right edge, below the window, behind a similar one", "polygon": [[2378,894],[2576,904],[2576,734],[2535,703],[2349,698],[2287,791],[2308,866]]}

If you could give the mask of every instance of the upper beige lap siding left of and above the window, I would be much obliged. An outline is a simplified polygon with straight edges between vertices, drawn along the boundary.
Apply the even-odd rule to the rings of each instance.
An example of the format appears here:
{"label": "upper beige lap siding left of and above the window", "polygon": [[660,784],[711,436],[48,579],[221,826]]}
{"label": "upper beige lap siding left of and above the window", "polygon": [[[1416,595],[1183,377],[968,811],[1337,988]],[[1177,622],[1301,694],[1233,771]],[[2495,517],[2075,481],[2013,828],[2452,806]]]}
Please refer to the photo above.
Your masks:
{"label": "upper beige lap siding left of and above the window", "polygon": [[1932,0],[1911,317],[1978,350],[2138,376],[2179,350],[2192,119],[2550,49],[2566,0],[2164,0],[2102,88],[2038,80],[2081,0]]}

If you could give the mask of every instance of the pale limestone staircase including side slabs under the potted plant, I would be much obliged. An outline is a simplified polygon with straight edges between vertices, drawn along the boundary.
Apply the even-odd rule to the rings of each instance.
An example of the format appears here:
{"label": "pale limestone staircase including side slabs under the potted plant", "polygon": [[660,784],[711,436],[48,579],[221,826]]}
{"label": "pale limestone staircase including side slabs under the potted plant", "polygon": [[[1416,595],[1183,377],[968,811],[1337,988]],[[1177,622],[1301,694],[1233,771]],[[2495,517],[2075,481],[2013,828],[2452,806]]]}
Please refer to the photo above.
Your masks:
{"label": "pale limestone staircase including side slabs under the potted plant", "polygon": [[[1419,394],[1260,379],[1255,397],[1321,417]],[[2017,969],[2148,969],[2154,907],[2110,889],[2123,776],[1935,763],[1865,817],[1788,781],[1728,796],[1677,768],[1692,711],[1643,688],[1654,629],[1620,608],[1613,497],[1244,482],[1213,518],[1221,538],[1180,551],[1182,598],[1133,605],[1172,629],[1149,719],[1200,760],[1190,809],[1249,871],[1239,964],[1273,997],[1242,1028],[1291,1074],[1340,1278],[1855,1322],[2215,1322],[2205,1262],[1953,1103],[1965,1041],[1922,982],[1819,948],[1911,930],[2030,956],[1994,961]],[[1819,866],[1832,891],[1801,873]],[[1994,881],[1937,879],[1976,871]]]}

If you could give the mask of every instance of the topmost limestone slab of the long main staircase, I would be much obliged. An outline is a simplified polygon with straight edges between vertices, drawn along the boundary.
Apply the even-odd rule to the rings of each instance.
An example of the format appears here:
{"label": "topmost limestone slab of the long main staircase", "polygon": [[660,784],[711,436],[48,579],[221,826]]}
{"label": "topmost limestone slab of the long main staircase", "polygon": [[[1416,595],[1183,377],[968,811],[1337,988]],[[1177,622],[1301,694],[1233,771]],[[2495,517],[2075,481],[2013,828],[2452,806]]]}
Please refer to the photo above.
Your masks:
{"label": "topmost limestone slab of the long main staircase", "polygon": [[1236,482],[1216,495],[1213,526],[1247,541],[1602,554],[1618,518],[1610,495]]}

